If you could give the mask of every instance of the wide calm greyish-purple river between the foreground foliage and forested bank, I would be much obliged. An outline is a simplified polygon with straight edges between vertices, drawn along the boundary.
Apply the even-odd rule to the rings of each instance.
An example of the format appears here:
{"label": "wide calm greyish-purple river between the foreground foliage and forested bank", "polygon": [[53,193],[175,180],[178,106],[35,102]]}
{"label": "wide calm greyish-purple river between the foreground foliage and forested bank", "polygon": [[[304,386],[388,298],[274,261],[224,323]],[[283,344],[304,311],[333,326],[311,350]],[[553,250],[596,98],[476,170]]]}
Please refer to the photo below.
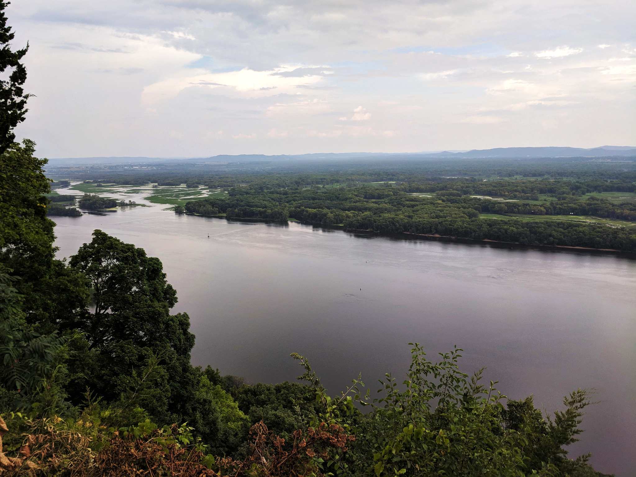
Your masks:
{"label": "wide calm greyish-purple river between the foreground foliage and forested bank", "polygon": [[[63,191],[60,191],[64,193]],[[294,380],[307,356],[335,394],[362,372],[403,377],[408,342],[457,344],[462,370],[509,397],[562,408],[597,389],[581,441],[597,470],[636,475],[636,261],[364,237],[290,223],[236,223],[136,207],[55,218],[59,256],[96,228],[160,258],[197,336],[193,363],[247,382]],[[209,238],[208,238],[209,234]],[[374,384],[375,383],[375,384]]]}

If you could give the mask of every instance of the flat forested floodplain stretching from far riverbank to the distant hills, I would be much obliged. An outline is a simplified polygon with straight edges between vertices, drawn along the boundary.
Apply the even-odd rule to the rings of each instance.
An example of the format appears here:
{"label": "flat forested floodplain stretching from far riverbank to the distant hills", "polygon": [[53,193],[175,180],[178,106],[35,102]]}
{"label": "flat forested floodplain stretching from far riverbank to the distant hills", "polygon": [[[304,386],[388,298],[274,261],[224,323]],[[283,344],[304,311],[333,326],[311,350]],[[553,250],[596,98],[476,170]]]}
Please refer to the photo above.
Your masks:
{"label": "flat forested floodplain stretching from far riverbank to the distant hills", "polygon": [[636,159],[629,157],[202,160],[52,172],[88,181],[73,186],[85,192],[147,189],[149,202],[177,213],[636,251]]}

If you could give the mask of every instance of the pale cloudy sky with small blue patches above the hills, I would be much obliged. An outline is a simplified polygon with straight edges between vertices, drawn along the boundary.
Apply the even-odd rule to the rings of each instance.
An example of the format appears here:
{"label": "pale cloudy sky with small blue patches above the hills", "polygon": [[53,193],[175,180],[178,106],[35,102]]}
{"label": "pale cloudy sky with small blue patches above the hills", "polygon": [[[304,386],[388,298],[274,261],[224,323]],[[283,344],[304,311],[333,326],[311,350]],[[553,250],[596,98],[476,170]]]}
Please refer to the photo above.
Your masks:
{"label": "pale cloudy sky with small blue patches above the hills", "polygon": [[46,157],[636,146],[633,0],[14,0]]}

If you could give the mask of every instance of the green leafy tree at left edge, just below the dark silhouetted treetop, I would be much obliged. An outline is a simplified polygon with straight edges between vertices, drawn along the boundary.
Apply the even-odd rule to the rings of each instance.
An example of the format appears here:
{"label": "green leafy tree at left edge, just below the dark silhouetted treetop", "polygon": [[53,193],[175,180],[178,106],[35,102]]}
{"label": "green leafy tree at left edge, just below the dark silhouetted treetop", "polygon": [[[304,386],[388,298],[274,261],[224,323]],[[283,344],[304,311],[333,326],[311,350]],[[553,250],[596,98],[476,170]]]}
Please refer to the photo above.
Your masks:
{"label": "green leafy tree at left edge, just below the dark silhouetted treetop", "polygon": [[85,307],[88,289],[81,275],[55,259],[46,160],[34,153],[34,142],[25,139],[0,154],[0,263],[20,277],[15,287],[25,297],[27,322],[50,327]]}

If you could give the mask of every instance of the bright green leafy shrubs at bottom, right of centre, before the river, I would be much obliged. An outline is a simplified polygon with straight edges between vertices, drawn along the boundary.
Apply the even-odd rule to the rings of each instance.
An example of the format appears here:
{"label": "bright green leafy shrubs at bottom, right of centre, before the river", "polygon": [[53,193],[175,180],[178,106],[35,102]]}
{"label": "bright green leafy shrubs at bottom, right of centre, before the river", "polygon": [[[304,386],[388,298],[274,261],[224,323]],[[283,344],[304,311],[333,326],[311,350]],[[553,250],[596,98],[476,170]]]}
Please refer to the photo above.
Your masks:
{"label": "bright green leafy shrubs at bottom, right of centre, before the river", "polygon": [[[348,463],[356,476],[584,476],[593,474],[589,455],[567,459],[565,446],[576,441],[590,391],[577,390],[563,400],[564,411],[555,420],[543,418],[532,397],[508,401],[495,389],[497,382],[480,383],[459,370],[461,349],[440,353],[433,363],[415,343],[406,379],[399,383],[386,375],[380,397],[370,403],[361,397],[363,384],[354,380],[342,397],[331,399],[307,361],[301,377],[312,383],[318,415],[343,425],[356,436],[340,465]],[[371,405],[366,415],[356,413],[352,399]],[[325,413],[326,410],[326,413]],[[332,467],[332,471],[337,471]]]}

